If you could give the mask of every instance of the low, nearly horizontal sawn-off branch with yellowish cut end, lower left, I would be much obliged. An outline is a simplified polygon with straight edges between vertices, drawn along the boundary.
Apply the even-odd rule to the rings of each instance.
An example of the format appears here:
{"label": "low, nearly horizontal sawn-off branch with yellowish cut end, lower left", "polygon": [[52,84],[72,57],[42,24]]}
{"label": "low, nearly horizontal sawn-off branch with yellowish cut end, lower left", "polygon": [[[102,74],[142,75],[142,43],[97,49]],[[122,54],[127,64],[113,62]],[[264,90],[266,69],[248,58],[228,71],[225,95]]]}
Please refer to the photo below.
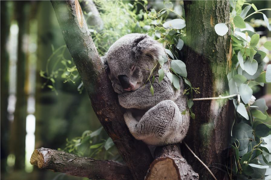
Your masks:
{"label": "low, nearly horizontal sawn-off branch with yellowish cut end, lower left", "polygon": [[50,169],[90,179],[132,179],[129,168],[118,162],[79,157],[54,149],[35,149],[30,160],[39,169]]}

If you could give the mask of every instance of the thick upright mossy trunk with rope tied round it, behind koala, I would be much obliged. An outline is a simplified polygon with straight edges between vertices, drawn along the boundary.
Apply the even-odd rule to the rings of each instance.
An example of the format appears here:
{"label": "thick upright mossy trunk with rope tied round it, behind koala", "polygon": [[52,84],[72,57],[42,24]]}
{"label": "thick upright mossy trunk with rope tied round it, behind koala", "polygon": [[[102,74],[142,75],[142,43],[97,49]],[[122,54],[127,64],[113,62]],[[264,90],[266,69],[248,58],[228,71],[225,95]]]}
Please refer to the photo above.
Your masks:
{"label": "thick upright mossy trunk with rope tied round it, behind koala", "polygon": [[[228,0],[184,0],[188,79],[201,92],[195,94],[194,98],[217,97],[226,91],[225,82],[232,56],[230,36],[229,33],[223,37],[218,36],[214,26],[229,21],[229,8]],[[191,121],[185,142],[209,166],[217,179],[223,179],[226,172],[225,152],[229,143],[228,102],[195,101],[193,111],[196,119]],[[212,179],[191,153],[186,154],[186,159],[193,164],[200,179]]]}

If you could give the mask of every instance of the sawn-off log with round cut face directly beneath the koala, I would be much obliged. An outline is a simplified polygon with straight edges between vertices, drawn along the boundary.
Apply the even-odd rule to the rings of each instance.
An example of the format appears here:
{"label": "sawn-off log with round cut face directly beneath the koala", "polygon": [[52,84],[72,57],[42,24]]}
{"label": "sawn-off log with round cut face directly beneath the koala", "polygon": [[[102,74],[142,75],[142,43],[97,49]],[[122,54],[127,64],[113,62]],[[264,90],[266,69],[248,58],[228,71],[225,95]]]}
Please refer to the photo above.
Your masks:
{"label": "sawn-off log with round cut face directly beneath the koala", "polygon": [[183,179],[198,180],[198,173],[182,157],[179,144],[169,144],[155,149],[152,162],[145,180]]}

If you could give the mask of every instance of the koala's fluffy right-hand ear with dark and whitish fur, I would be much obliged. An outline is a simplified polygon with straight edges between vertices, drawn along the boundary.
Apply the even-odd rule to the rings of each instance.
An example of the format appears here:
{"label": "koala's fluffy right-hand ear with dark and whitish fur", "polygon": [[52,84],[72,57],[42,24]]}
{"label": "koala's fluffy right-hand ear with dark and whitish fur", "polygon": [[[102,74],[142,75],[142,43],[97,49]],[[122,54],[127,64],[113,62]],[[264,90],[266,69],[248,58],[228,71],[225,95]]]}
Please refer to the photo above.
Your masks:
{"label": "koala's fluffy right-hand ear with dark and whitish fur", "polygon": [[162,45],[146,34],[142,34],[140,37],[136,38],[132,46],[136,58],[146,56],[153,60],[158,60],[164,53]]}

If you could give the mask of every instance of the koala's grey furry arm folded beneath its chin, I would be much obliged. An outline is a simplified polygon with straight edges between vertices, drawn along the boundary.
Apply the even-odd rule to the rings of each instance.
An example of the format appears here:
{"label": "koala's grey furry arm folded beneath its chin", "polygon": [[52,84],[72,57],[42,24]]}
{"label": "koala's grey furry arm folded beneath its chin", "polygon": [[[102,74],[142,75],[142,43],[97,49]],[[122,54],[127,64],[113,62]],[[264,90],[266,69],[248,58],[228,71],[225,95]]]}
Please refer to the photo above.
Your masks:
{"label": "koala's grey furry arm folded beneath its chin", "polygon": [[151,84],[147,83],[136,91],[120,94],[119,104],[127,109],[148,109],[163,100],[175,99],[177,91],[173,89],[168,77],[165,76],[160,83],[158,82],[158,77],[155,77],[152,86],[154,88],[154,95],[150,91]]}

